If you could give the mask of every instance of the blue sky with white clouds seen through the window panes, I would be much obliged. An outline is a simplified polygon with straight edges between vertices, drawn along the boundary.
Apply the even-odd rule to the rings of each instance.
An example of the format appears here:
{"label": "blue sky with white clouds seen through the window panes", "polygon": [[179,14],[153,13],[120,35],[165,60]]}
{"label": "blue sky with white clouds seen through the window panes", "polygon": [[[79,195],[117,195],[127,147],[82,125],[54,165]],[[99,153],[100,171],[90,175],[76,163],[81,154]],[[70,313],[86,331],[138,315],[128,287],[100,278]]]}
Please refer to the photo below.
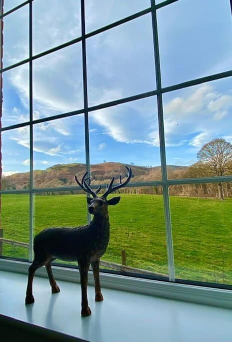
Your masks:
{"label": "blue sky with white clouds seen through the window panes", "polygon": [[[21,3],[5,0],[4,11]],[[33,54],[80,36],[80,1],[33,1]],[[119,6],[120,4],[120,6]],[[150,6],[86,0],[86,32]],[[179,0],[157,11],[162,86],[232,69],[229,0]],[[81,43],[33,62],[33,117],[83,108]],[[88,105],[156,89],[151,15],[86,41]],[[28,58],[28,5],[4,18],[3,67]],[[28,64],[3,73],[2,126],[28,121]],[[216,137],[232,143],[232,79],[163,95],[167,164],[191,165]],[[160,165],[156,96],[89,113],[90,163]],[[34,169],[84,163],[84,116],[36,124]],[[3,175],[29,170],[29,129],[2,133]]]}

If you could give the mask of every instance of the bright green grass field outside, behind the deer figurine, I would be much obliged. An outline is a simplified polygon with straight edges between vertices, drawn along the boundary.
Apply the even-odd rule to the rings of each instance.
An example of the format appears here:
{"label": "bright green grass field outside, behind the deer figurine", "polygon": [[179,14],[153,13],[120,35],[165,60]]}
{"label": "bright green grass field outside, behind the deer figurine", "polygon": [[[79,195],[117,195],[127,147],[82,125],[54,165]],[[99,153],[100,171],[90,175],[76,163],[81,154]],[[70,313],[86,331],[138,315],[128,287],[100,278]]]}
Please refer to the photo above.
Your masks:
{"label": "bright green grass field outside, behind the deer figurine", "polygon": [[[111,237],[103,260],[167,275],[163,197],[122,194],[110,207]],[[28,242],[28,195],[2,195],[3,237]],[[232,284],[232,199],[171,197],[176,276]],[[86,224],[84,195],[35,195],[34,233],[46,227]],[[27,258],[27,250],[3,244],[3,255]]]}

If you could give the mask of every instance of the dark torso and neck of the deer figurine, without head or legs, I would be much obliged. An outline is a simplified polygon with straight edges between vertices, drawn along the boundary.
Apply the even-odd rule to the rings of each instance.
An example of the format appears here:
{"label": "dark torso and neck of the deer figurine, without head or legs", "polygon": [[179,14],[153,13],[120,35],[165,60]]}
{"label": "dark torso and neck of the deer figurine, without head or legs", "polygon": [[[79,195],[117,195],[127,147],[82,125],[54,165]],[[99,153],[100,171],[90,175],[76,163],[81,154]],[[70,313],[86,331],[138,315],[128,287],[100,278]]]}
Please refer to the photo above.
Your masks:
{"label": "dark torso and neck of the deer figurine, without head or legs", "polygon": [[45,258],[65,261],[87,258],[92,262],[105,253],[109,238],[109,218],[97,217],[82,227],[44,229],[34,238],[34,254],[41,261]]}

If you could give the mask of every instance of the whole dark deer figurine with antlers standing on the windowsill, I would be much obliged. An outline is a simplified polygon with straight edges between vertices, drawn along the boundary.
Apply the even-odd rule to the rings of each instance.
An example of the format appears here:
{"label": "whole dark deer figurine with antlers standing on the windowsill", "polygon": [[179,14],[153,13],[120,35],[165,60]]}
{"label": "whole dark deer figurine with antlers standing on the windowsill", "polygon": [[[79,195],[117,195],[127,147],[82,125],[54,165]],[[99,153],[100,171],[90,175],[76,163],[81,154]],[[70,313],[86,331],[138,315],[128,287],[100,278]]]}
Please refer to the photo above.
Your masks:
{"label": "whole dark deer figurine with antlers standing on the windowsill", "polygon": [[103,300],[99,281],[99,259],[105,253],[110,237],[108,205],[115,205],[120,201],[120,197],[113,197],[107,200],[107,196],[129,183],[132,171],[127,166],[126,169],[128,171],[127,179],[122,183],[122,176],[120,176],[120,184],[113,186],[113,177],[101,197],[97,195],[101,186],[96,191],[90,188],[90,177],[86,178],[88,172],[83,175],[81,182],[75,176],[79,187],[92,196],[92,198],[87,197],[87,203],[89,205],[89,213],[93,215],[93,219],[85,226],[47,228],[35,236],[33,245],[34,260],[28,268],[26,304],[34,302],[32,294],[33,277],[36,269],[43,265],[45,265],[47,270],[51,292],[57,293],[60,291],[51,270],[51,262],[57,258],[65,261],[77,261],[78,263],[81,282],[82,316],[89,316],[91,314],[87,298],[88,269],[90,264],[95,282],[95,300]]}

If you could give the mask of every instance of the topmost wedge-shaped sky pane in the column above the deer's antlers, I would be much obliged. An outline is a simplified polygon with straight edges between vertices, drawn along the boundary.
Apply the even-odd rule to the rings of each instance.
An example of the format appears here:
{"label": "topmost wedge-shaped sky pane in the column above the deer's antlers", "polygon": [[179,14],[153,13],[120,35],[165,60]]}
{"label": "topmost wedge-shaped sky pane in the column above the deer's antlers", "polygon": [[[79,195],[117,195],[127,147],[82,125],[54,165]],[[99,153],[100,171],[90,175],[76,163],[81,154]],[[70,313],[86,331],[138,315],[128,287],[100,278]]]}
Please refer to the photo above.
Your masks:
{"label": "topmost wedge-shaped sky pane in the column above the deer's antlers", "polygon": [[151,6],[150,0],[85,1],[86,31],[94,31]]}

